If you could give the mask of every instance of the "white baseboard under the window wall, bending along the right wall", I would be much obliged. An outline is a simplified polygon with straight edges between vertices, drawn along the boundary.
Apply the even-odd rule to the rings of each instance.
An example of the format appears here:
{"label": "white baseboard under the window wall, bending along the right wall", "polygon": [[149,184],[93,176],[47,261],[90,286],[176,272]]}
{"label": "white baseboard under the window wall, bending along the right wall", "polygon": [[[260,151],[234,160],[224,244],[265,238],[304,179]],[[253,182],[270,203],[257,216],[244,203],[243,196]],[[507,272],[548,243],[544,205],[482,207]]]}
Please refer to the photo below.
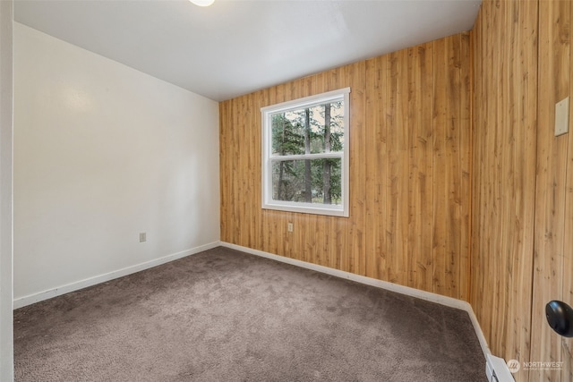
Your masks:
{"label": "white baseboard under the window wall, bending along the right wall", "polygon": [[406,294],[407,296],[412,296],[421,300],[436,302],[441,305],[448,306],[450,308],[464,310],[467,312],[470,320],[472,321],[472,324],[474,325],[475,335],[477,335],[477,339],[479,340],[480,345],[482,347],[483,357],[487,358],[487,355],[491,354],[490,348],[487,345],[487,341],[485,341],[485,336],[483,335],[482,327],[480,327],[479,323],[477,322],[474,310],[472,309],[472,306],[469,304],[469,302],[454,299],[452,297],[442,296],[436,293],[421,291],[419,289],[411,288],[409,286],[389,283],[388,281],[382,281],[372,277],[356,275],[354,273],[334,269],[331,267],[324,267],[317,264],[308,263],[306,261],[290,259],[284,256],[278,256],[262,250],[253,250],[251,248],[243,247],[241,245],[231,244],[230,242],[220,242],[220,245],[233,250],[241,250],[246,253],[251,253],[252,255],[261,256],[262,258],[277,260],[286,264],[294,265],[296,267],[304,267],[307,269],[312,269],[314,271],[321,272],[330,276],[346,278],[348,280],[352,280],[360,284],[371,285],[381,289],[385,289],[387,291]]}

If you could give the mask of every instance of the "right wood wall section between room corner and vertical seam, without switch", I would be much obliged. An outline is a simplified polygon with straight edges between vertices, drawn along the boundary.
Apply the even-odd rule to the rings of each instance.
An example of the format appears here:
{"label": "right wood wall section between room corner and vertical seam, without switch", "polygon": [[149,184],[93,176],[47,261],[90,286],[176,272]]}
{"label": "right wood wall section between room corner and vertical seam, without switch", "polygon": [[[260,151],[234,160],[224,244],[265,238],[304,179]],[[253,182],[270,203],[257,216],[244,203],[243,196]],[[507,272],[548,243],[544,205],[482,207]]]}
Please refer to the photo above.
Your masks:
{"label": "right wood wall section between room corner and vertical seam, without switch", "polygon": [[536,2],[484,1],[472,31],[475,107],[470,303],[492,352],[518,361],[529,361],[530,350],[536,25]]}

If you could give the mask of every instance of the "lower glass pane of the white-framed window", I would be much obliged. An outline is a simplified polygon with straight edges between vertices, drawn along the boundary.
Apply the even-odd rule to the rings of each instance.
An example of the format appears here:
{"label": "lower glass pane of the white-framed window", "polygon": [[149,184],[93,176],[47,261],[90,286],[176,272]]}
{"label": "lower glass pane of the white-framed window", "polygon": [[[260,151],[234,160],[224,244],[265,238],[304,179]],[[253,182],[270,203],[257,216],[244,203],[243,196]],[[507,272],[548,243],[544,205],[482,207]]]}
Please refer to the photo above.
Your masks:
{"label": "lower glass pane of the white-framed window", "polygon": [[341,163],[340,158],[273,160],[273,199],[341,204]]}

